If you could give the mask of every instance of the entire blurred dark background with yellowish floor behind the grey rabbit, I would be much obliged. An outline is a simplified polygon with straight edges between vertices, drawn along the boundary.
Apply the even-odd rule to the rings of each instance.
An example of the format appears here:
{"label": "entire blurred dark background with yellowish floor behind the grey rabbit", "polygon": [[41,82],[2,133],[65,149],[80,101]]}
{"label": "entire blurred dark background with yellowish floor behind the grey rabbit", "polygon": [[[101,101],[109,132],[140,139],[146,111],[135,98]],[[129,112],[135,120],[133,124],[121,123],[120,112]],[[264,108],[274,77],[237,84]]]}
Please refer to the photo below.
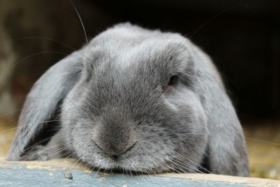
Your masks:
{"label": "entire blurred dark background with yellowish floor behind the grey rabbit", "polygon": [[[119,22],[179,32],[207,52],[245,130],[252,176],[280,179],[280,1],[73,0],[89,39]],[[0,157],[27,92],[83,46],[69,0],[0,1]]]}

